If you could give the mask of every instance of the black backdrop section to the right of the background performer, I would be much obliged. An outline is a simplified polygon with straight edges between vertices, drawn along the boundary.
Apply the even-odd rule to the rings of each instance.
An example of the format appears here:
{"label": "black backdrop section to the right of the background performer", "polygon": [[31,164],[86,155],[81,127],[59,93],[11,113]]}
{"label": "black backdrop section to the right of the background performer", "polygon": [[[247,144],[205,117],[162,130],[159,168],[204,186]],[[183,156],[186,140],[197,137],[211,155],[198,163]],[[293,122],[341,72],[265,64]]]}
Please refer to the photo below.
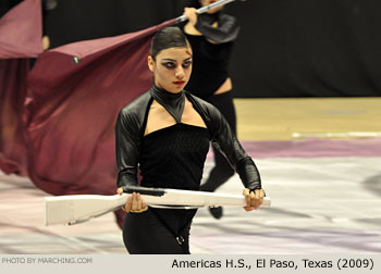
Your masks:
{"label": "black backdrop section to the right of the background performer", "polygon": [[381,1],[255,0],[232,10],[243,27],[232,64],[239,96],[381,95]]}

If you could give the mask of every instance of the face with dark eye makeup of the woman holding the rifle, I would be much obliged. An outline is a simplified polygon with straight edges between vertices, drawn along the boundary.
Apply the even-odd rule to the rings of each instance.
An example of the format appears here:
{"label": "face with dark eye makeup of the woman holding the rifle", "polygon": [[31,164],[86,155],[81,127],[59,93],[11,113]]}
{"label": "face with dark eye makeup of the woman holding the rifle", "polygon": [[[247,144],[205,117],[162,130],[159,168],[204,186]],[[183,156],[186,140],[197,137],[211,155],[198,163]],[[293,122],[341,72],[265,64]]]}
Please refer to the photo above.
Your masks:
{"label": "face with dark eye makeup of the woman holding the rifle", "polygon": [[190,77],[192,50],[188,47],[164,49],[156,55],[156,60],[148,57],[148,66],[158,87],[177,94]]}

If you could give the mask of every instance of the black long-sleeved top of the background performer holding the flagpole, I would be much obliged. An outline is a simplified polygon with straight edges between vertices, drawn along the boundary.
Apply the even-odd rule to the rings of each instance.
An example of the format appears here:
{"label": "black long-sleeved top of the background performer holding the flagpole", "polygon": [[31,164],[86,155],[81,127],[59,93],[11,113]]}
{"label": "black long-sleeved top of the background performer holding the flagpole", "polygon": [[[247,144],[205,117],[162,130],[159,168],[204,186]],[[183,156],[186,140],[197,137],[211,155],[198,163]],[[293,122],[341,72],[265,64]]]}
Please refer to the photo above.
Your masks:
{"label": "black long-sleeved top of the background performer holding the flagpole", "polygon": [[[212,27],[218,22],[218,27]],[[207,99],[229,78],[229,63],[239,26],[224,13],[197,15],[195,28],[202,35],[186,34],[193,51],[193,68],[185,89]]]}

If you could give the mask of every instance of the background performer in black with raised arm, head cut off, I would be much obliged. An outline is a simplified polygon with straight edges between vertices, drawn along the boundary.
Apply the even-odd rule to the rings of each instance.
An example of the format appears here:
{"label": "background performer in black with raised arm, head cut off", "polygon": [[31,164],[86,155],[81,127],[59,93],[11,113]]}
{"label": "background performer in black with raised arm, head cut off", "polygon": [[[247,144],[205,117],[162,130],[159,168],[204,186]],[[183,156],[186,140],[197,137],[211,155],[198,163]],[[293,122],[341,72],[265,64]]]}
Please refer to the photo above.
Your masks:
{"label": "background performer in black with raised arm, head cut off", "polygon": [[[210,102],[226,119],[232,132],[236,134],[236,117],[232,97],[232,80],[228,73],[230,57],[239,27],[235,17],[222,12],[223,5],[197,14],[195,8],[208,5],[216,0],[193,1],[194,8],[185,8],[188,17],[183,30],[194,52],[192,77],[185,87],[187,91]],[[231,176],[234,170],[226,159],[213,148],[214,166],[201,185],[204,191],[214,191]],[[211,208],[216,217],[222,216],[222,208]]]}

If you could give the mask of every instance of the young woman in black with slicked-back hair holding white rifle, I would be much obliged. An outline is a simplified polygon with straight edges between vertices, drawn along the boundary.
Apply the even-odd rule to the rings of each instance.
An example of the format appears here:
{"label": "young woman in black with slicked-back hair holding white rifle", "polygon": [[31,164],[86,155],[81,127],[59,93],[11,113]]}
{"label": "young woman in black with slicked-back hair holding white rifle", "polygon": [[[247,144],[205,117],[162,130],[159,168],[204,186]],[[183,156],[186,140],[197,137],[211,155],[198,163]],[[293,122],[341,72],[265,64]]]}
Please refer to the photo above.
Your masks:
{"label": "young woman in black with slicked-back hair holding white rifle", "polygon": [[[153,37],[148,57],[153,86],[121,110],[115,125],[118,192],[137,185],[138,165],[143,187],[198,190],[211,141],[241,176],[244,209],[258,209],[263,190],[251,158],[213,105],[183,90],[193,58],[179,27],[163,28]],[[134,192],[124,210],[123,239],[130,253],[189,253],[196,209],[147,207]]]}

